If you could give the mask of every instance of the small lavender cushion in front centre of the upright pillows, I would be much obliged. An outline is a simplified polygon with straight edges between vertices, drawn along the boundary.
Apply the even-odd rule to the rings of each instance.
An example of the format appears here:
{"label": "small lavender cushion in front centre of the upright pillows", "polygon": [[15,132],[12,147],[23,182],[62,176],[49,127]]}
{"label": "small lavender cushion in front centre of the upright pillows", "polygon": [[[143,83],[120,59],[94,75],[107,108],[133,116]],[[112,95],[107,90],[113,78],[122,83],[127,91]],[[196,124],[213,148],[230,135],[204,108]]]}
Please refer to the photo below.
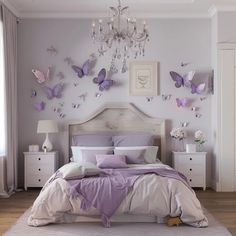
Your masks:
{"label": "small lavender cushion in front centre of the upright pillows", "polygon": [[96,155],[97,167],[99,168],[127,168],[124,155]]}

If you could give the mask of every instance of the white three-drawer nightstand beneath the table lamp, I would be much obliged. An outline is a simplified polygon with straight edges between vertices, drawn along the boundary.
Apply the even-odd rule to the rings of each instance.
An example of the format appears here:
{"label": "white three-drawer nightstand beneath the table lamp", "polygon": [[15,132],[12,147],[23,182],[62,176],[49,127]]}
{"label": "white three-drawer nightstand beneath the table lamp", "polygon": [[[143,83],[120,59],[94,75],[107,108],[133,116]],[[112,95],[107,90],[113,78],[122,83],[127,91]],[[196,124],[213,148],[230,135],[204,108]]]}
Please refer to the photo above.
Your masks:
{"label": "white three-drawer nightstand beneath the table lamp", "polygon": [[43,187],[58,169],[58,152],[24,152],[25,190],[28,187]]}

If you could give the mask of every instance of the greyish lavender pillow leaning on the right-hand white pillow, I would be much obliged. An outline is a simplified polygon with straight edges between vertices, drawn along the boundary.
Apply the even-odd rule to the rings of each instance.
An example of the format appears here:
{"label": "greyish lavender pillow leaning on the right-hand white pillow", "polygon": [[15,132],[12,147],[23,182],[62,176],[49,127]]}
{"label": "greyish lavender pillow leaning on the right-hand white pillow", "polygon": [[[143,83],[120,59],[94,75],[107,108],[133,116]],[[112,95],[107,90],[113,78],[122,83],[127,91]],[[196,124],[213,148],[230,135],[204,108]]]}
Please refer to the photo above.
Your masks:
{"label": "greyish lavender pillow leaning on the right-hand white pillow", "polygon": [[136,150],[123,150],[123,149],[115,149],[115,155],[125,155],[127,164],[144,164],[144,154],[145,149],[136,149]]}

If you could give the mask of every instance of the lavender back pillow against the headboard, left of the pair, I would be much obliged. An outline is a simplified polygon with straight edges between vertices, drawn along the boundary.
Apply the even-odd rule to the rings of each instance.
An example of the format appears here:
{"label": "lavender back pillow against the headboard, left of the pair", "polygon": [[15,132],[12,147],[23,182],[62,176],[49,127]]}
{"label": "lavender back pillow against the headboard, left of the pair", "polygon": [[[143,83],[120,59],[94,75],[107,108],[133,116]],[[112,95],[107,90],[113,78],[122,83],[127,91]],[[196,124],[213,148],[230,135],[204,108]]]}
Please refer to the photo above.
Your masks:
{"label": "lavender back pillow against the headboard, left of the pair", "polygon": [[111,147],[112,135],[109,134],[84,134],[72,137],[72,146]]}

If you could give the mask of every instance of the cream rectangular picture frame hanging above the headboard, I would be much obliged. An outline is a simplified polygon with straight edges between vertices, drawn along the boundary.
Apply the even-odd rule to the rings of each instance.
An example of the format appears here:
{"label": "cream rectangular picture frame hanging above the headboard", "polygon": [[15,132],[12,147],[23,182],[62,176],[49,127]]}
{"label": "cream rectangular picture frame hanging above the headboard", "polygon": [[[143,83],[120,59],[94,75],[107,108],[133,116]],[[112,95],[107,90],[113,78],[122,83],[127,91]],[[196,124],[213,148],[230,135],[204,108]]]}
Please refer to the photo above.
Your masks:
{"label": "cream rectangular picture frame hanging above the headboard", "polygon": [[159,62],[157,61],[130,62],[129,94],[131,96],[159,95]]}

